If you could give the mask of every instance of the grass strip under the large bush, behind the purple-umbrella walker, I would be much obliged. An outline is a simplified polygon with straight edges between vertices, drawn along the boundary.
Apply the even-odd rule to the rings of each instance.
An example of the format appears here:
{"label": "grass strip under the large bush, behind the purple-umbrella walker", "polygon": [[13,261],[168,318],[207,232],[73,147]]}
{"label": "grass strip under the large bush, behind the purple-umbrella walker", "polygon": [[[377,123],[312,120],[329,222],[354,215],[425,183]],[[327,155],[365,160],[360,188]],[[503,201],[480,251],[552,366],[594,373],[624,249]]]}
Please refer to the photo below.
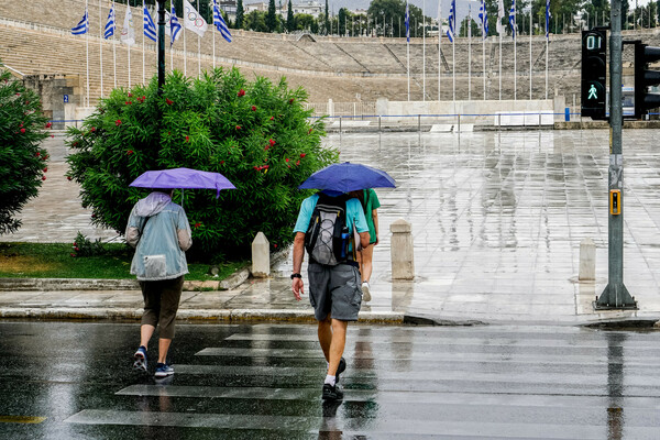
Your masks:
{"label": "grass strip under the large bush, behind the purple-umbrella walker", "polygon": [[[72,257],[70,243],[0,243],[2,278],[98,278],[134,279],[130,274],[133,249],[122,243],[103,245],[103,255]],[[220,268],[218,277],[208,275],[211,264]],[[248,265],[239,262],[188,262],[186,279],[223,279]]]}

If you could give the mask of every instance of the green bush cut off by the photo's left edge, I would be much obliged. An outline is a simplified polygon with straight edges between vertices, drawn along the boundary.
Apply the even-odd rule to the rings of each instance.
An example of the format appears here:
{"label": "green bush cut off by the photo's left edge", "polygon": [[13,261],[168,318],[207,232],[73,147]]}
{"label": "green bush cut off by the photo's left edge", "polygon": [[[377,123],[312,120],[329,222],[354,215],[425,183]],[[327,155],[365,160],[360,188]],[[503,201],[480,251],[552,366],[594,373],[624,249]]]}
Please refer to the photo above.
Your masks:
{"label": "green bush cut off by the photo's left edge", "polygon": [[21,227],[14,217],[46,179],[46,122],[36,94],[0,72],[0,235]]}

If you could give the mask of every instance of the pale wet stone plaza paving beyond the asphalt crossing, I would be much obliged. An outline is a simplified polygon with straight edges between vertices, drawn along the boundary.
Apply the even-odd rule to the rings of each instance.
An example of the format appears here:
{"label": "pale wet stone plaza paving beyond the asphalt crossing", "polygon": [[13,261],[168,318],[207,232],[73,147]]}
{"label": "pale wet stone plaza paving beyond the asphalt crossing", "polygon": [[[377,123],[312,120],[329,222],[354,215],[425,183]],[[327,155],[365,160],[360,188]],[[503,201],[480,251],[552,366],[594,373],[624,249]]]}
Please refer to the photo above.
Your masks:
{"label": "pale wet stone plaza paving beyond the asphalt crossing", "polygon": [[[624,280],[638,311],[594,312],[607,284],[608,132],[509,131],[331,134],[327,144],[344,161],[387,170],[396,189],[378,189],[381,244],[374,252],[374,299],[362,316],[430,316],[436,320],[580,323],[608,318],[660,318],[660,156],[658,130],[624,132]],[[2,241],[69,241],[80,230],[113,238],[89,224],[76,185],[63,175],[65,152],[51,140],[53,163],[40,197],[23,211],[24,227]],[[393,283],[389,224],[413,224],[414,282]],[[578,283],[580,242],[596,243],[596,282]],[[191,315],[239,310],[310,315],[290,294],[289,260],[266,280],[221,295],[193,295]],[[26,299],[1,293],[0,311],[38,308],[140,308],[138,292],[74,292],[59,299],[33,292]],[[97,296],[95,296],[97,295]],[[208,294],[213,295],[213,293]],[[45,304],[45,305],[44,305]],[[133,307],[133,305],[135,307]],[[210,310],[210,311],[209,311]],[[229,310],[229,311],[228,311]],[[369,315],[374,314],[374,315]]]}

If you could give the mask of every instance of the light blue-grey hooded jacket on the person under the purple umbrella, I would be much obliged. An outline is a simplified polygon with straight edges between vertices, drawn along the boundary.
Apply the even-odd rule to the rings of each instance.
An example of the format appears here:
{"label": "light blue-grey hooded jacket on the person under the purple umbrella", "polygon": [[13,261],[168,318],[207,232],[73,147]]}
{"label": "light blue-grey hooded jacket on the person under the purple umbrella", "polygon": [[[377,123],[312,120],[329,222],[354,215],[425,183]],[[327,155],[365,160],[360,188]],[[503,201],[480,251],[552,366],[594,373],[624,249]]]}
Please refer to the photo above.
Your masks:
{"label": "light blue-grey hooded jacket on the person under the purple umbrella", "polygon": [[172,279],[188,273],[185,252],[193,245],[190,224],[184,208],[168,195],[155,191],[138,201],[125,237],[135,248],[131,274],[139,280]]}

